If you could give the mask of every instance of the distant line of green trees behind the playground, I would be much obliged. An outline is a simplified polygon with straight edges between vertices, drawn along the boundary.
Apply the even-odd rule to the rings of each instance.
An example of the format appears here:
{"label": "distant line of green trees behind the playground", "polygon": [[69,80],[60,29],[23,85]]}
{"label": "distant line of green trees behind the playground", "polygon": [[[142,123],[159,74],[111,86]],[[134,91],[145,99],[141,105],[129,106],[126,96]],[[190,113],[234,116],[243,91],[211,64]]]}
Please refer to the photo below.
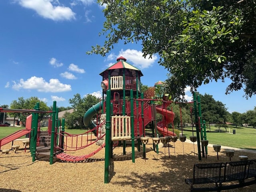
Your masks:
{"label": "distant line of green trees behind the playground", "polygon": [[[149,87],[142,85],[142,90],[146,91]],[[199,94],[199,93],[197,93]],[[253,110],[248,110],[244,113],[239,112],[228,112],[225,104],[220,101],[214,100],[212,95],[209,94],[199,94],[201,100],[201,111],[202,119],[206,121],[206,124],[226,124],[226,122],[232,123],[234,126],[252,126],[256,127],[256,106]],[[58,111],[65,111],[69,109],[74,109],[72,113],[65,113],[65,127],[68,129],[84,129],[83,117],[85,112],[91,108],[94,104],[100,101],[96,96],[88,94],[86,97],[81,97],[80,94],[74,94],[74,97],[69,99],[71,106],[58,107]],[[30,97],[24,99],[24,97],[19,97],[18,100],[14,100],[10,104],[11,109],[34,109],[36,103],[39,102],[39,110],[52,110],[52,106],[48,107],[43,101],[40,101],[37,97]],[[0,105],[1,108],[8,108],[7,104]],[[168,106],[169,110],[172,110],[176,118],[174,119],[174,126],[181,127],[185,124],[192,124],[195,121],[194,118],[194,105],[193,104],[172,104]],[[26,122],[26,116],[28,114],[24,113],[0,113],[0,122],[4,122],[3,118],[6,119],[7,116],[14,117],[14,122],[16,119],[20,119],[22,122]],[[39,120],[41,121],[44,117],[49,116],[49,114],[39,114]],[[96,115],[94,116],[96,117]],[[162,120],[162,115],[157,114],[157,120]],[[181,124],[182,122],[182,124]],[[171,125],[170,125],[171,126]]]}

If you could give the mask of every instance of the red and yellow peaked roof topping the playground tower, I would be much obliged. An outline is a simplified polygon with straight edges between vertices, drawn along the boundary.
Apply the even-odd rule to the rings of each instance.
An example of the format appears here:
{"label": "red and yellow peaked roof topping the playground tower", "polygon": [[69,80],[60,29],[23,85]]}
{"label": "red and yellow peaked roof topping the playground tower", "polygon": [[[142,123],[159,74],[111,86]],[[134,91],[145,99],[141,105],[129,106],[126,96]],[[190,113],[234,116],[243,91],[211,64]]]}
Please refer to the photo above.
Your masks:
{"label": "red and yellow peaked roof topping the playground tower", "polygon": [[141,72],[138,68],[136,68],[136,67],[134,67],[134,66],[132,66],[131,64],[129,64],[129,63],[126,62],[126,58],[120,56],[120,57],[118,57],[118,58],[116,59],[116,61],[117,61],[117,62],[116,62],[115,64],[113,64],[112,66],[110,66],[109,68],[107,68],[104,72],[100,73],[100,75],[101,75],[101,76],[104,76],[104,74],[105,74],[108,70],[118,70],[118,69],[124,69],[124,68],[125,68],[125,69],[129,69],[129,70],[138,71],[139,74],[140,74],[140,76],[143,76],[142,72]]}

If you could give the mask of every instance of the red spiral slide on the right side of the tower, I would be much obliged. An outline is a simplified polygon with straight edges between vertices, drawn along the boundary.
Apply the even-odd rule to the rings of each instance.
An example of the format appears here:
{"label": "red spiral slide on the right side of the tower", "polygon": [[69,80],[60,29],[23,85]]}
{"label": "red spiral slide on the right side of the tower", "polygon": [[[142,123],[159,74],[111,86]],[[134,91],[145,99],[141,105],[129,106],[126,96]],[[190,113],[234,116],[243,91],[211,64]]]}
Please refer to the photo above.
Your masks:
{"label": "red spiral slide on the right side of the tower", "polygon": [[173,122],[175,114],[172,111],[163,109],[163,106],[160,105],[156,106],[156,112],[164,116],[164,120],[156,124],[158,132],[164,136],[176,136],[174,132],[169,131],[168,128],[165,126],[166,124],[170,124]]}

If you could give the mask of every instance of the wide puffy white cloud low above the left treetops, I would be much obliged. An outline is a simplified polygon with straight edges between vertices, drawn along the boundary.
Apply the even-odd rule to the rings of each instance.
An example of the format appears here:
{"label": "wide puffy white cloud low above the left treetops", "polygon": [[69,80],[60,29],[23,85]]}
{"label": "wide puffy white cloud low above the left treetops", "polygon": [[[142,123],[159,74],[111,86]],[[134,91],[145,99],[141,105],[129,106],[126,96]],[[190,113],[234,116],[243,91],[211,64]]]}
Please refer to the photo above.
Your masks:
{"label": "wide puffy white cloud low above the left treetops", "polygon": [[38,92],[66,92],[71,91],[71,85],[62,84],[58,79],[50,79],[46,82],[42,77],[33,76],[26,81],[20,79],[19,82],[13,81],[12,88],[15,90],[28,89],[37,90]]}

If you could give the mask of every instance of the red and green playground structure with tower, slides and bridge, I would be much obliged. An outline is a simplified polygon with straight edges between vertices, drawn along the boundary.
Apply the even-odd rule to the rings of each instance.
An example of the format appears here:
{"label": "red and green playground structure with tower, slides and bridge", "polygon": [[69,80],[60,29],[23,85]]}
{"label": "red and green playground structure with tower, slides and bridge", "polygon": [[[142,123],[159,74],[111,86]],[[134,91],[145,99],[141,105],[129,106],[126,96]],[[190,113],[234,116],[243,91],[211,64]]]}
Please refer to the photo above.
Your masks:
{"label": "red and green playground structure with tower, slides and bridge", "polygon": [[[176,142],[177,136],[174,133],[173,120],[175,114],[172,110],[168,110],[168,106],[172,105],[172,101],[165,96],[156,96],[155,87],[161,86],[161,82],[156,83],[155,87],[142,93],[140,90],[140,77],[142,72],[134,66],[128,64],[126,59],[120,57],[116,64],[107,68],[100,73],[102,76],[102,100],[92,106],[84,114],[84,125],[88,131],[80,135],[71,135],[65,132],[65,120],[58,119],[58,108],[56,102],[53,103],[52,111],[38,110],[37,104],[34,110],[10,110],[0,109],[1,112],[30,112],[31,128],[20,131],[23,135],[30,132],[30,152],[32,161],[40,155],[49,156],[50,164],[53,164],[54,158],[64,161],[82,161],[90,158],[98,151],[105,147],[105,175],[104,182],[109,182],[109,166],[110,158],[113,157],[113,146],[118,143],[123,147],[123,154],[126,154],[126,142],[132,143],[132,162],[135,162],[135,141],[138,142],[138,150],[143,145],[143,157],[146,157],[145,145],[149,137],[146,136],[145,127],[150,125],[152,130],[153,149],[158,153],[158,144],[160,141]],[[196,136],[193,135],[192,141],[198,142],[198,159],[201,160],[200,136],[201,140],[206,141],[205,123],[201,118],[200,98],[194,93],[194,115]],[[38,127],[38,113],[50,113],[48,136],[50,137],[50,147],[48,151],[39,152],[39,140],[42,138],[40,127]],[[156,122],[156,113],[162,115],[162,120]],[[92,117],[97,115],[97,121],[94,124]],[[192,116],[191,116],[192,118]],[[172,128],[168,128],[168,125]],[[203,132],[204,128],[204,132]],[[26,131],[26,132],[25,132]],[[22,134],[14,133],[15,137],[8,136],[0,140],[0,146],[4,142],[10,142]],[[92,136],[96,139],[92,139]],[[71,145],[67,144],[67,140],[72,140]],[[80,140],[80,142],[78,142]],[[186,140],[186,137],[183,141]],[[68,154],[68,151],[74,151],[86,148],[92,144],[98,144],[99,148],[82,156],[74,156]],[[205,156],[204,156],[205,154]],[[206,157],[207,145],[202,145],[202,155]]]}

